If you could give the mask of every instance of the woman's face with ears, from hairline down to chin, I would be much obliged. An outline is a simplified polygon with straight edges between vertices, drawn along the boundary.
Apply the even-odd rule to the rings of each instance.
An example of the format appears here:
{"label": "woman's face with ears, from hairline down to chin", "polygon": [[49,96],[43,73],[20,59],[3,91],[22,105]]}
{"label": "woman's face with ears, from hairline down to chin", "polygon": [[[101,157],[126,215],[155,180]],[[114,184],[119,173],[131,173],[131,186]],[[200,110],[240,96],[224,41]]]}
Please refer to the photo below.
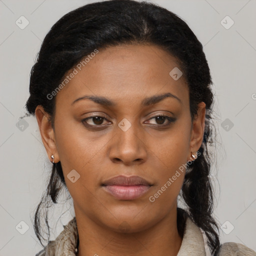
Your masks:
{"label": "woman's face with ears, from hairline down to chin", "polygon": [[[176,211],[184,165],[202,142],[205,104],[192,123],[178,64],[154,45],[111,46],[83,65],[56,94],[54,132],[37,107],[43,143],[61,162],[76,214],[112,230],[143,230]],[[117,175],[150,186],[105,186]]]}

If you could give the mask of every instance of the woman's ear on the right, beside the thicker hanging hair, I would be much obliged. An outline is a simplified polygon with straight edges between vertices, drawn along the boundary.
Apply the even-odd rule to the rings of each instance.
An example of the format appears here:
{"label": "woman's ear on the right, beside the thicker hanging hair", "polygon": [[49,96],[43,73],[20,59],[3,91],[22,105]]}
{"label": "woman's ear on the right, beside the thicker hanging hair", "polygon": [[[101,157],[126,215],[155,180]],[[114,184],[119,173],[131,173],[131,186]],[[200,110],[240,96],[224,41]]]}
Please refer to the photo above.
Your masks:
{"label": "woman's ear on the right, beside the thicker hanging hair", "polygon": [[[205,126],[205,103],[200,102],[198,104],[197,115],[195,115],[194,120],[191,124],[191,135],[190,135],[190,151],[196,152],[200,148],[203,140],[204,126]],[[191,152],[189,152],[188,160],[194,160],[191,157]],[[187,160],[187,161],[188,161]]]}

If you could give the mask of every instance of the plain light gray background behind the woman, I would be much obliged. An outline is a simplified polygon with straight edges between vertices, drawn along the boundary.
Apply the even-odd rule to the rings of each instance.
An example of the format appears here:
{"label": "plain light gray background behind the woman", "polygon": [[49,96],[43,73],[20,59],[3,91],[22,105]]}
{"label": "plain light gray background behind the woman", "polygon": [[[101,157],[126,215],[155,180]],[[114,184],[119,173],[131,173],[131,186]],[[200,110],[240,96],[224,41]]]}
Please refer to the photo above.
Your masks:
{"label": "plain light gray background behind the woman", "polygon": [[[63,14],[88,2],[92,1],[0,0],[0,256],[33,256],[41,249],[31,218],[46,188],[51,163],[35,117],[24,118],[27,127],[16,123],[25,112],[29,72],[46,32]],[[183,18],[203,44],[214,82],[219,141],[212,169],[214,216],[219,226],[224,224],[221,242],[234,241],[256,250],[256,1],[154,2]],[[21,15],[29,21],[24,29],[15,23]],[[234,21],[229,29],[221,24],[226,15]],[[226,18],[222,22],[231,24]],[[70,203],[57,206],[52,219],[57,220]],[[62,215],[55,236],[62,230],[61,223],[73,215],[72,209]],[[24,234],[20,232],[25,224],[20,221],[28,225]]]}

